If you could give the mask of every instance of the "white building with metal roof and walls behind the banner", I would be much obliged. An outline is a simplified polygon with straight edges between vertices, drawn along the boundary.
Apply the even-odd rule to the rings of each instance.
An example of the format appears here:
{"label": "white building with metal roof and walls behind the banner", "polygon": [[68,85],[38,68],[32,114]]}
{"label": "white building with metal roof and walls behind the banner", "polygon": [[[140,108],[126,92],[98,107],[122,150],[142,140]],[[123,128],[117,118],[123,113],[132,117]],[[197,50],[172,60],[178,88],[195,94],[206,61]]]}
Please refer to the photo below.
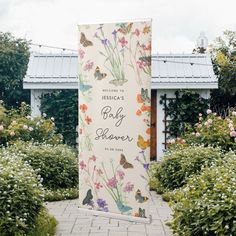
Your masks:
{"label": "white building with metal roof and walls behind the banner", "polygon": [[[24,78],[24,89],[31,91],[32,116],[41,115],[40,96],[56,89],[78,88],[77,54],[33,53]],[[174,97],[179,89],[197,91],[209,98],[218,88],[211,59],[207,54],[158,54],[152,57],[152,142],[151,156],[160,159],[166,147],[165,111],[160,105],[164,94]]]}

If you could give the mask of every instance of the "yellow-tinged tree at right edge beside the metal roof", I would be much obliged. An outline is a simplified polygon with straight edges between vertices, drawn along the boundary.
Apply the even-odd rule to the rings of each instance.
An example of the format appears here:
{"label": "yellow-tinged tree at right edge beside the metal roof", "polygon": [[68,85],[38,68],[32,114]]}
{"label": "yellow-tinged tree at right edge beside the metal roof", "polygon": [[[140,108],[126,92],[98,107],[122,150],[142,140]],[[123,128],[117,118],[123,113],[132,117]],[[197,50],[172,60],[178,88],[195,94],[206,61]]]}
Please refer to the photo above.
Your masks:
{"label": "yellow-tinged tree at right edge beside the metal roof", "polygon": [[226,30],[211,46],[219,89],[211,91],[211,107],[222,114],[236,104],[236,32]]}

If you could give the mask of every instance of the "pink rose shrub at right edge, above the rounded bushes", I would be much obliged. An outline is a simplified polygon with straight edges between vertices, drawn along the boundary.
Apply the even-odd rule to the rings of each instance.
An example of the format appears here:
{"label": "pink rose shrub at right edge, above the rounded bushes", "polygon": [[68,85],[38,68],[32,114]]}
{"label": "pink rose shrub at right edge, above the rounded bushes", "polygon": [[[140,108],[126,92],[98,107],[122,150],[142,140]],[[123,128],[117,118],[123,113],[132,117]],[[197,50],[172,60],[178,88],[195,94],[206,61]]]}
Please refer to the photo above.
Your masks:
{"label": "pink rose shrub at right edge, above the rounded bushes", "polygon": [[188,144],[204,144],[205,146],[219,146],[222,150],[236,150],[236,111],[231,111],[226,118],[217,116],[211,110],[207,110],[207,117],[199,114],[195,129],[185,133]]}

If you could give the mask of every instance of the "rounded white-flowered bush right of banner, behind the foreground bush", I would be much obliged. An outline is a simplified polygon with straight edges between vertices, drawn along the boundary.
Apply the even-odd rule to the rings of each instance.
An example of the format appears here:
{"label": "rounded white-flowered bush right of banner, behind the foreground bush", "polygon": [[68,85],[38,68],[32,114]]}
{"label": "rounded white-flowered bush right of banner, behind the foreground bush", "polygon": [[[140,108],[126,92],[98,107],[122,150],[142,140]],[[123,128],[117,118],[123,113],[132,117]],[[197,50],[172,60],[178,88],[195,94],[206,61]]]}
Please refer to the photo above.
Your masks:
{"label": "rounded white-flowered bush right of banner, behind the foreground bush", "polygon": [[187,179],[199,174],[202,168],[210,166],[222,158],[219,148],[189,146],[170,150],[156,172],[156,177],[167,190],[173,190],[186,184]]}

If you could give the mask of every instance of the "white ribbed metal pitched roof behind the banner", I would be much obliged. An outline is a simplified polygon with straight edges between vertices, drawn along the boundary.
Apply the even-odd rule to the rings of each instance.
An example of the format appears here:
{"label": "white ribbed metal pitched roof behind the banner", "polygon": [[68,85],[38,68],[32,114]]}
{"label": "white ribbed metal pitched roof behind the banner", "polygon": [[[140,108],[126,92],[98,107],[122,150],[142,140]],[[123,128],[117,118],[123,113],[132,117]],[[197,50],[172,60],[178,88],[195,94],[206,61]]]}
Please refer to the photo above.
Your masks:
{"label": "white ribbed metal pitched roof behind the banner", "polygon": [[[77,54],[32,53],[24,78],[25,89],[77,89]],[[210,89],[218,81],[207,54],[152,56],[153,89]]]}

